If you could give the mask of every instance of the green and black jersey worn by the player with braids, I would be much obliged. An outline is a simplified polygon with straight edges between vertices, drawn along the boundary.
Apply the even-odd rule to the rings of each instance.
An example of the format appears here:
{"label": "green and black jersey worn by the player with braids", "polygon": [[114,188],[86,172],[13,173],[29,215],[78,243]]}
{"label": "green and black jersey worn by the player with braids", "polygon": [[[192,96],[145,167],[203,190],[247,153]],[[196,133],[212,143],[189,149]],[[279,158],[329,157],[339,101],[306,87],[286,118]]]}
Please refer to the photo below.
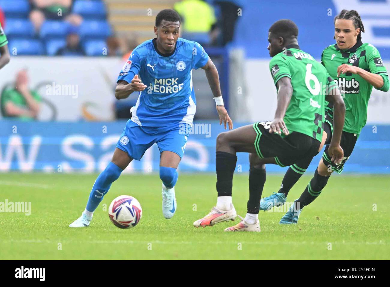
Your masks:
{"label": "green and black jersey worn by the player with braids", "polygon": [[345,73],[337,78],[337,68],[342,64],[349,64],[388,77],[378,50],[362,41],[346,51],[340,50],[336,44],[330,45],[323,51],[321,63],[330,76],[337,79],[340,94],[344,98],[346,112],[343,130],[360,134],[367,121],[367,105],[372,85],[357,74]]}

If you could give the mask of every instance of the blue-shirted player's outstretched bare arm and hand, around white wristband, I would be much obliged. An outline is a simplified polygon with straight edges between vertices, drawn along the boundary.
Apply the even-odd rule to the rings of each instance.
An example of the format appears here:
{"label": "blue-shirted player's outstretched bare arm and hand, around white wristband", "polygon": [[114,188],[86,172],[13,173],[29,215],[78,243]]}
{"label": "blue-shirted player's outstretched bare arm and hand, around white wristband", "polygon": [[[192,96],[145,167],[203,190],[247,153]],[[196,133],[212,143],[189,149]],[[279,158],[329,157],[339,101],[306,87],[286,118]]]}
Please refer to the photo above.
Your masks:
{"label": "blue-shirted player's outstretched bare arm and hand, around white wristband", "polygon": [[[207,80],[209,81],[210,89],[213,92],[214,98],[217,97],[222,97],[221,93],[221,86],[219,82],[219,76],[218,76],[218,70],[215,67],[213,61],[209,58],[207,61],[207,64],[202,67],[202,69],[206,73]],[[226,129],[226,123],[229,125],[229,130],[233,129],[233,122],[229,117],[229,114],[227,114],[227,111],[225,109],[225,106],[223,105],[216,105],[216,109],[218,112],[218,115],[220,117],[220,125],[223,124],[225,125]]]}

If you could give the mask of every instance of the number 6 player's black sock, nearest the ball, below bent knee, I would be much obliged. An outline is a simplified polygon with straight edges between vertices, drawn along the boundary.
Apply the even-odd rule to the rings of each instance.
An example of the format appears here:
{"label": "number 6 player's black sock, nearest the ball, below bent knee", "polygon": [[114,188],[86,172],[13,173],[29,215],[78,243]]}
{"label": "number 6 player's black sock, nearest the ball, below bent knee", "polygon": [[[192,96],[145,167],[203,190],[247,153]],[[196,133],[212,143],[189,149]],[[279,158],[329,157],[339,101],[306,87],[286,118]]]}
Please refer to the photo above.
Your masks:
{"label": "number 6 player's black sock, nearest the ball, below bent knee", "polygon": [[233,174],[236,169],[237,156],[227,152],[215,153],[218,196],[232,196]]}

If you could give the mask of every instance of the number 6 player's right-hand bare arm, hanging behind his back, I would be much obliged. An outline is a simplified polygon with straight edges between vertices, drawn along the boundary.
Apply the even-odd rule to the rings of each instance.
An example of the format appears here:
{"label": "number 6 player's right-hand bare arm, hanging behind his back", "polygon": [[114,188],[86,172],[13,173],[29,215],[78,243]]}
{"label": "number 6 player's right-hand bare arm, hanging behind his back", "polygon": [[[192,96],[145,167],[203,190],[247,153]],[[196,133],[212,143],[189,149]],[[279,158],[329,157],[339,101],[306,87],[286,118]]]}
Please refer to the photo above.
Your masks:
{"label": "number 6 player's right-hand bare arm, hanging behind his back", "polygon": [[328,148],[332,162],[340,164],[344,151],[340,146],[342,129],[344,128],[345,103],[338,89],[333,89],[326,95],[326,100],[333,103],[333,135]]}

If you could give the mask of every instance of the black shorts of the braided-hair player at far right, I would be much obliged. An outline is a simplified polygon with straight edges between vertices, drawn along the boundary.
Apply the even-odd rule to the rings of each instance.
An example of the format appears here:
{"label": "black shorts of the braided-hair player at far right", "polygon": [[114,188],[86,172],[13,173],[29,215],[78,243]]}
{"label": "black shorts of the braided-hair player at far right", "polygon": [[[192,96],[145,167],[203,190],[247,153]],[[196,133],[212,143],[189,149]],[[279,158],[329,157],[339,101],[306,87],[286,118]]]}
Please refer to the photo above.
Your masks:
{"label": "black shorts of the braided-hair player at far right", "polygon": [[324,162],[324,164],[328,167],[332,167],[333,171],[341,173],[344,169],[345,162],[351,156],[353,148],[355,148],[355,144],[358,137],[358,134],[351,134],[350,132],[344,132],[343,130],[341,134],[340,146],[344,150],[344,157],[342,158],[341,164],[335,164],[331,162],[332,157],[328,153],[329,146],[326,146],[325,151],[322,155],[322,161]]}

